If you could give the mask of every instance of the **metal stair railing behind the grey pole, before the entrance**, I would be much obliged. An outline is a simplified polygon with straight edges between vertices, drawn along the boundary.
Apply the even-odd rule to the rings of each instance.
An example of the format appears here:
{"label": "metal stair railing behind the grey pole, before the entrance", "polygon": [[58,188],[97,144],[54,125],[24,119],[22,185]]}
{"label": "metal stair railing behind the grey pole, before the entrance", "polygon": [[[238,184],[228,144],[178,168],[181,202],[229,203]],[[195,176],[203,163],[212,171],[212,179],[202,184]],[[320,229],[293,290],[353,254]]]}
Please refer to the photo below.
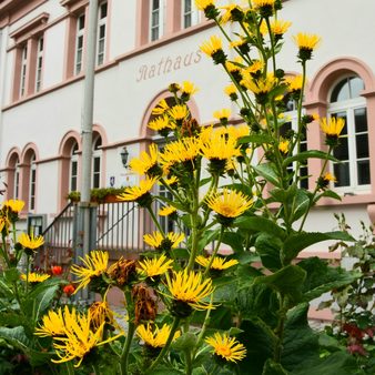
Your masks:
{"label": "metal stair railing behind the grey pole, before the entrance", "polygon": [[[69,203],[42,232],[44,245],[36,264],[48,270],[54,264],[77,262],[82,255],[79,205]],[[143,234],[154,226],[149,213],[134,202],[99,203],[93,207],[90,237],[92,250],[138,253],[145,250]]]}

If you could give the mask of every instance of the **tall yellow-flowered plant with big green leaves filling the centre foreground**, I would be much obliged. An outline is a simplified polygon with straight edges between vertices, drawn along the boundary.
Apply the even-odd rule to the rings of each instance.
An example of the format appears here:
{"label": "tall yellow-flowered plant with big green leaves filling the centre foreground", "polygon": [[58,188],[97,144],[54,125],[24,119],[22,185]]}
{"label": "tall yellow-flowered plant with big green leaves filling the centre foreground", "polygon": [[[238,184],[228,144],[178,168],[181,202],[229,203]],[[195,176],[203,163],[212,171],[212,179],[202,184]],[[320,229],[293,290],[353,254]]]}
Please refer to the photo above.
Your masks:
{"label": "tall yellow-flowered plant with big green leaves filling the centre foreground", "polygon": [[[199,89],[170,84],[172,99],[160,101],[149,123],[165,144],[150,144],[130,162],[140,184],[119,195],[150,214],[154,231],[144,242],[152,251],[113,264],[107,252],[87,254],[71,268],[77,291],[89,288],[101,302],[87,313],[49,311],[34,330],[52,343],[52,363],[70,374],[352,374],[344,352],[320,358],[307,310],[358,274],[317,257],[296,261],[312,244],[353,240],[341,231],[304,230],[323,196],[339,199],[330,190],[328,162],[343,120],[321,120],[326,151],[302,148],[320,121],[302,104],[306,67],[321,41],[294,36],[301,74],[287,77],[276,59],[291,26],[280,18],[282,1],[243,3],[196,0],[222,34],[201,50],[227,74],[224,92],[241,124],[230,124],[231,111],[221,109],[213,113],[217,123],[202,126],[189,109]],[[226,23],[237,32],[229,34]],[[285,131],[291,102],[297,129]],[[311,159],[322,162],[318,175],[302,173]],[[116,323],[107,303],[113,287],[123,292],[125,322]]]}

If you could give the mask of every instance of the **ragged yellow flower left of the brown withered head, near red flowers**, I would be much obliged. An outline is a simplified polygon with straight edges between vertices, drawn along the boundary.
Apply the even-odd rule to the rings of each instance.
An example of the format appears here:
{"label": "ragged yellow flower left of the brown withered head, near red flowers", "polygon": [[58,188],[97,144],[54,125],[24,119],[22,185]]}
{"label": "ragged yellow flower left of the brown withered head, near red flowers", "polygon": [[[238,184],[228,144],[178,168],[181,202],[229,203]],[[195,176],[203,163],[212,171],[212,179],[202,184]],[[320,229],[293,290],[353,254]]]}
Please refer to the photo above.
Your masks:
{"label": "ragged yellow flower left of the brown withered head, near red flowers", "polygon": [[73,264],[70,268],[71,273],[79,277],[78,282],[80,283],[74,293],[88,286],[93,277],[99,277],[107,271],[109,254],[108,252],[94,250],[85,255],[84,259],[80,257],[80,260],[83,262],[82,266]]}

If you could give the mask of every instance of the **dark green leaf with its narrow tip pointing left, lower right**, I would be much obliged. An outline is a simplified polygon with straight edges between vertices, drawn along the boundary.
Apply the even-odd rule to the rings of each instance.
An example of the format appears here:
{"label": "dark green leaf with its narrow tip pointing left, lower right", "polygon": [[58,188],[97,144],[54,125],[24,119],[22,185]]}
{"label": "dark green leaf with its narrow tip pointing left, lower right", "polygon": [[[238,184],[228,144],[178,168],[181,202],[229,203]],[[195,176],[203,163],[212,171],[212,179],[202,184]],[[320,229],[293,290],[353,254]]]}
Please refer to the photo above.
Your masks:
{"label": "dark green leaf with its narrow tip pointing left, lower right", "polygon": [[297,265],[287,265],[267,276],[255,278],[255,283],[266,284],[282,295],[288,295],[294,302],[302,300],[302,285],[306,272]]}

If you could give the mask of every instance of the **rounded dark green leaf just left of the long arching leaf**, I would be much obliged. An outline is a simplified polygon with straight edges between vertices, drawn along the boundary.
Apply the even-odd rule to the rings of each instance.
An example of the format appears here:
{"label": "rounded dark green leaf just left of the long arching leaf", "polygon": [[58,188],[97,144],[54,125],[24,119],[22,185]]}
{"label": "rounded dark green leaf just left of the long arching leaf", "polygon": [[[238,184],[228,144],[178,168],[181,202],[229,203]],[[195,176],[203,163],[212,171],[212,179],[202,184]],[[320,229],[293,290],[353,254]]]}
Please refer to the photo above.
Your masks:
{"label": "rounded dark green leaf just left of the long arching leaf", "polygon": [[282,267],[280,253],[283,241],[268,233],[262,233],[255,241],[255,250],[262,259],[262,265],[271,271]]}

